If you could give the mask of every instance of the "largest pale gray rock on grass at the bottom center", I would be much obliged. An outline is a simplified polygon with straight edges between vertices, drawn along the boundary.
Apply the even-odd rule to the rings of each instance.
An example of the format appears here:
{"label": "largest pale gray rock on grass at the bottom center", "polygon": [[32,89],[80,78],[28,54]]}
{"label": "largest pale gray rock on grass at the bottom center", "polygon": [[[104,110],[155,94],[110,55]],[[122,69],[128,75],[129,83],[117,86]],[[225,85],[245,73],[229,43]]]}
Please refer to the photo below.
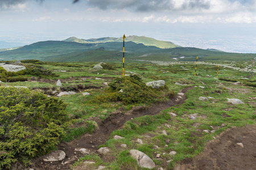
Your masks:
{"label": "largest pale gray rock on grass at the bottom center", "polygon": [[143,168],[155,168],[155,163],[146,154],[138,150],[131,150],[130,155],[137,160],[139,166]]}

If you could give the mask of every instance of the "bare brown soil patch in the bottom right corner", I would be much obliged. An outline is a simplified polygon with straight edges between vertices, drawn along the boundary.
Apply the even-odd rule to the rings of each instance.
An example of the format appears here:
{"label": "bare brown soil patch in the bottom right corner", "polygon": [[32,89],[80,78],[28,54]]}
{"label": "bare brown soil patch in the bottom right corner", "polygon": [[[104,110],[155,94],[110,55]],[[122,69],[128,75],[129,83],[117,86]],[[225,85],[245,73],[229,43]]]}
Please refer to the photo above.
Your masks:
{"label": "bare brown soil patch in the bottom right corner", "polygon": [[[255,125],[231,128],[210,141],[203,153],[183,160],[174,169],[256,169],[255,141]],[[237,143],[242,143],[243,147]]]}

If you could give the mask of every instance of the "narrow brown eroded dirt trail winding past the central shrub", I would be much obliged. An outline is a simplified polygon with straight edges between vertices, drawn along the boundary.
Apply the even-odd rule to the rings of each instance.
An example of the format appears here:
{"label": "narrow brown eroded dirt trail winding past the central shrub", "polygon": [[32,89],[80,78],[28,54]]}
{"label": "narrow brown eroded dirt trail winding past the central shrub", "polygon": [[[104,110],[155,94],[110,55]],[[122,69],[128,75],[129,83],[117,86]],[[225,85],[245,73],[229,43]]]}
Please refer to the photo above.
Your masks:
{"label": "narrow brown eroded dirt trail winding past the central shrub", "polygon": [[[185,94],[188,90],[193,87],[186,87],[180,91],[180,93]],[[44,156],[32,160],[32,165],[30,168],[39,169],[70,169],[71,165],[75,163],[76,160],[82,155],[75,152],[75,148],[86,148],[89,149],[91,153],[97,151],[97,147],[103,145],[108,141],[110,134],[117,129],[121,129],[126,121],[131,120],[131,118],[141,117],[145,115],[154,115],[163,111],[164,109],[170,108],[177,104],[183,104],[186,97],[185,95],[175,95],[172,99],[154,104],[151,107],[135,107],[130,111],[125,112],[123,108],[118,109],[110,114],[108,119],[104,121],[96,120],[99,129],[93,134],[82,135],[80,139],[69,143],[61,143],[58,150],[63,150],[66,154],[63,162],[43,162]],[[65,164],[64,164],[65,163]]]}

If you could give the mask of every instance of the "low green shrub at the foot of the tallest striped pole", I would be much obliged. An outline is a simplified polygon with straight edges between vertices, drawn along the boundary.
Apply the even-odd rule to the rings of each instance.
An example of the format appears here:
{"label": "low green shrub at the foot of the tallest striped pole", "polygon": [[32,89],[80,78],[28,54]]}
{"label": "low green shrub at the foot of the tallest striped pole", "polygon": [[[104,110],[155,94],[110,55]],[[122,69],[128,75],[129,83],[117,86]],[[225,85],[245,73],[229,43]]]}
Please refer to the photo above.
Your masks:
{"label": "low green shrub at the foot of the tallest striped pole", "polygon": [[168,91],[166,85],[159,89],[146,86],[146,83],[135,74],[115,78],[108,85],[109,88],[105,90],[104,94],[97,96],[94,101],[122,101],[123,104],[163,101],[163,92]]}

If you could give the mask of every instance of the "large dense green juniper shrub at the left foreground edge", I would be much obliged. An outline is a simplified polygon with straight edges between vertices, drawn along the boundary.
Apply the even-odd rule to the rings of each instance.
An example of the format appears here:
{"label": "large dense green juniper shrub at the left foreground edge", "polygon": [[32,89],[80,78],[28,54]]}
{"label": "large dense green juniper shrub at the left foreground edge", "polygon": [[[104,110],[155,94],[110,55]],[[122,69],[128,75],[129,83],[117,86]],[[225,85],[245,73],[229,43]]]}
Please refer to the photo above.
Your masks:
{"label": "large dense green juniper shrub at the left foreground edge", "polygon": [[66,104],[27,88],[0,87],[0,169],[55,148],[68,121]]}

